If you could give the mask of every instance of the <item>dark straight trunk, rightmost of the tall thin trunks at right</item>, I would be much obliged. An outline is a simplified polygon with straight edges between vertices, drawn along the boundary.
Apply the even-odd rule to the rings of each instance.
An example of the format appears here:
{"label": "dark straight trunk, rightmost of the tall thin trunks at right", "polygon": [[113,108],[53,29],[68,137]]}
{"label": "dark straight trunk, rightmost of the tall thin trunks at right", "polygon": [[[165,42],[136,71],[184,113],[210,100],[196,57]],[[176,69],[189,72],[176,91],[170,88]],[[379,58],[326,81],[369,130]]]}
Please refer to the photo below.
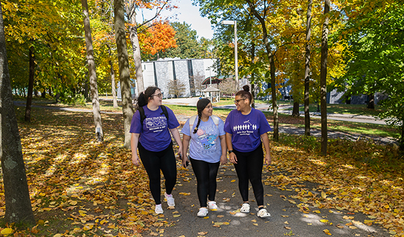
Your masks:
{"label": "dark straight trunk, rightmost of the tall thin trunks at right", "polygon": [[330,0],[325,0],[323,34],[321,37],[320,106],[321,106],[321,154],[327,155],[327,56]]}

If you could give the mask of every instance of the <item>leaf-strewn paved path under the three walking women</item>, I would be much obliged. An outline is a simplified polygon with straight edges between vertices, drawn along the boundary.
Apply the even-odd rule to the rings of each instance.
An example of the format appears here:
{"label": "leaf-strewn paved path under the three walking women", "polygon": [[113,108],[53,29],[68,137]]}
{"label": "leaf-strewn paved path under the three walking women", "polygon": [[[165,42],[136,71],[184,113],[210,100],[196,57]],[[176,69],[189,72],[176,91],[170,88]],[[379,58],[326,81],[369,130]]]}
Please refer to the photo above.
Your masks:
{"label": "leaf-strewn paved path under the three walking women", "polygon": [[[263,181],[275,171],[266,171]],[[313,191],[316,183],[299,183],[304,188]],[[290,196],[295,194],[295,188],[288,185],[286,189],[277,188],[267,182],[264,185],[264,204],[271,217],[262,219],[257,217],[258,211],[254,194],[249,191],[251,212],[240,213],[242,198],[238,191],[238,178],[233,165],[224,165],[219,168],[217,176],[217,211],[210,211],[208,218],[197,217],[199,199],[196,193],[196,178],[192,167],[178,170],[178,180],[173,196],[176,199],[176,207],[167,209],[163,201],[164,214],[159,215],[162,220],[173,222],[173,226],[164,229],[164,236],[302,236],[318,237],[327,236],[327,229],[332,236],[389,236],[387,231],[378,224],[371,227],[364,224],[368,217],[362,213],[348,213],[335,209],[318,209],[307,206],[303,213],[298,206],[300,201]],[[320,192],[317,190],[317,192]],[[316,193],[317,193],[316,192]],[[187,194],[187,195],[184,195]],[[316,211],[316,212],[314,212]],[[318,213],[319,212],[319,213]],[[353,217],[355,224],[350,226],[344,216]],[[345,218],[345,219],[344,219]],[[321,222],[320,220],[328,220]],[[348,225],[345,225],[348,224]],[[354,229],[355,228],[355,229]],[[152,227],[150,232],[159,233],[158,228]]]}

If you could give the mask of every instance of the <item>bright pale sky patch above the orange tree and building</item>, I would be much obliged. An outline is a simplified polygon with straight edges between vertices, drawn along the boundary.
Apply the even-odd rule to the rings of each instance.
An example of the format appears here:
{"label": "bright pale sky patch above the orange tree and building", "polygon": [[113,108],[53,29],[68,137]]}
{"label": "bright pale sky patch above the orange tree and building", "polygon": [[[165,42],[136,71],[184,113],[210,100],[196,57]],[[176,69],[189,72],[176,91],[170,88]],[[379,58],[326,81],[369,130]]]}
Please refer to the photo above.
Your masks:
{"label": "bright pale sky patch above the orange tree and building", "polygon": [[[176,18],[170,20],[170,22],[187,22],[191,25],[191,28],[196,30],[199,39],[201,37],[212,39],[213,30],[210,27],[210,20],[208,17],[201,17],[199,13],[199,6],[193,6],[192,0],[173,0],[173,3],[178,8],[168,11],[162,11],[163,17],[171,17],[176,15]],[[148,16],[154,15],[155,11],[143,11],[143,15],[146,19]],[[137,22],[143,22],[141,13],[137,13]]]}

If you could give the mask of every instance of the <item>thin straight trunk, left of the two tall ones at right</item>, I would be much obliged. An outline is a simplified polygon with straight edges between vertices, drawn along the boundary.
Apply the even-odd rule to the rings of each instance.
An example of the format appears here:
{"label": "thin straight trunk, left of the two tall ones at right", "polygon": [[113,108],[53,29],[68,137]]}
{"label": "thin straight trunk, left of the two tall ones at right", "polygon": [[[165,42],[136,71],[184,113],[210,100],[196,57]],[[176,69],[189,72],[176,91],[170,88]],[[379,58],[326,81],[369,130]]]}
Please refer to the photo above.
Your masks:
{"label": "thin straight trunk, left of the two tall ones at right", "polygon": [[310,38],[311,38],[311,5],[313,0],[309,0],[307,6],[306,22],[306,62],[304,63],[304,135],[310,136]]}

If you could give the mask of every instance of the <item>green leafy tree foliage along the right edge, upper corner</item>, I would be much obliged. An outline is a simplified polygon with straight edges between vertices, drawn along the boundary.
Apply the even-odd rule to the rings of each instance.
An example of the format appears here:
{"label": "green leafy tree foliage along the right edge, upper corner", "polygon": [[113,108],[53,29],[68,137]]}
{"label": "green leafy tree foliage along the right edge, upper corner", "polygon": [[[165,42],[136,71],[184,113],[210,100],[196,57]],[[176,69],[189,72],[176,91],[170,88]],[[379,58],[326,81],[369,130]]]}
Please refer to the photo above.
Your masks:
{"label": "green leafy tree foliage along the right edge, upper corner", "polygon": [[347,71],[337,85],[347,94],[382,93],[387,99],[380,119],[396,128],[404,151],[404,6],[402,1],[354,1],[343,8],[349,17],[339,38],[348,40],[344,49]]}

